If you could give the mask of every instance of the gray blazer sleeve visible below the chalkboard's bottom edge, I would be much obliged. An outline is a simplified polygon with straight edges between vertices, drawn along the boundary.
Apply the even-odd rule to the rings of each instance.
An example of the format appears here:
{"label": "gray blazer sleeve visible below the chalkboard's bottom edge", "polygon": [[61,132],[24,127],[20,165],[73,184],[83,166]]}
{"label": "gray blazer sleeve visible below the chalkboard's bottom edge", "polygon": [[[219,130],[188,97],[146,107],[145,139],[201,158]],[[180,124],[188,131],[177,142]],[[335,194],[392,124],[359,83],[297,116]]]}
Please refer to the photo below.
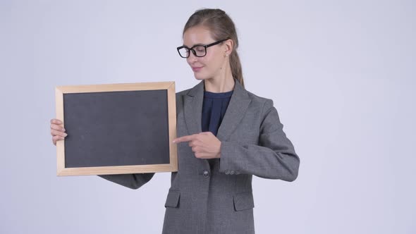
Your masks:
{"label": "gray blazer sleeve visible below the chalkboard's bottom edge", "polygon": [[154,176],[154,173],[135,173],[135,174],[116,174],[116,175],[100,175],[99,177],[129,187],[132,190],[142,187],[149,182]]}

